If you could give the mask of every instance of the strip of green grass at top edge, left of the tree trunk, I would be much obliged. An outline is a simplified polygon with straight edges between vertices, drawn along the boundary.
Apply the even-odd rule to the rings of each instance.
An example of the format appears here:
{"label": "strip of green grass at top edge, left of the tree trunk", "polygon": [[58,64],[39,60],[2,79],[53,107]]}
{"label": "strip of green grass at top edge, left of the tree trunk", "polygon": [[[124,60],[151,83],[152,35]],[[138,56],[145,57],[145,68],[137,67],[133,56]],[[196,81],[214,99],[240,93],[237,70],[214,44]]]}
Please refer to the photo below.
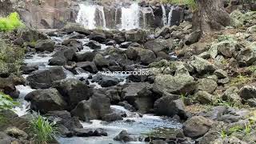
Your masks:
{"label": "strip of green grass at top edge, left of the tree trunk", "polygon": [[170,3],[174,5],[185,5],[188,6],[191,10],[197,10],[198,5],[194,0],[162,0],[163,3]]}

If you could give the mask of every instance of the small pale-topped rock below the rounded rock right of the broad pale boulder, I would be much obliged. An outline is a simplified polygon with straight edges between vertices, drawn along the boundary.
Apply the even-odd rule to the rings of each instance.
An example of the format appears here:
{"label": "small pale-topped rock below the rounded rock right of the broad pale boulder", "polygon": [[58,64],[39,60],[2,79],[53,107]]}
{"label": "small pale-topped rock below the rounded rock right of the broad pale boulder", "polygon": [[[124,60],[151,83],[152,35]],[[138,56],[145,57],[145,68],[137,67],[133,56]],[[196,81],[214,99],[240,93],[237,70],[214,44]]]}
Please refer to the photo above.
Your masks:
{"label": "small pale-topped rock below the rounded rock right of the broad pale boulder", "polygon": [[214,102],[214,96],[206,91],[199,90],[198,93],[194,94],[194,96],[201,104],[211,104]]}

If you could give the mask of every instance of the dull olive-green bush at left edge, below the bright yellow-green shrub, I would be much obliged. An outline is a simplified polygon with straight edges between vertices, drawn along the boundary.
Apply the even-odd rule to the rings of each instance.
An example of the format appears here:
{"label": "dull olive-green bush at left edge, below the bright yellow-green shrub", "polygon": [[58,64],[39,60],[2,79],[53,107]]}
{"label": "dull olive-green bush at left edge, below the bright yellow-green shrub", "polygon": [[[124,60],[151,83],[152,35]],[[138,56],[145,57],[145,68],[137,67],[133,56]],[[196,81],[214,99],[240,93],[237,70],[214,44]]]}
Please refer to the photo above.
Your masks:
{"label": "dull olive-green bush at left edge, below the bright yellow-green shrub", "polygon": [[12,47],[0,39],[0,73],[16,73],[20,69],[25,50]]}

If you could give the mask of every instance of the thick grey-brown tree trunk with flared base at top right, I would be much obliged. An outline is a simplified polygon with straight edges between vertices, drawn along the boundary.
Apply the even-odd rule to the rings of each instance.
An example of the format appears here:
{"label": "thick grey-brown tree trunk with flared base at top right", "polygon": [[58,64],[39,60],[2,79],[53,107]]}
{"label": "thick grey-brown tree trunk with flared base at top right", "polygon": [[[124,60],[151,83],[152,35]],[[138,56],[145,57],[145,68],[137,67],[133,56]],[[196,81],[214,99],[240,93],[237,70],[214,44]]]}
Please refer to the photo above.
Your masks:
{"label": "thick grey-brown tree trunk with flared base at top right", "polygon": [[193,26],[208,34],[214,30],[222,30],[230,25],[230,15],[224,8],[222,0],[195,0],[198,10],[194,13]]}

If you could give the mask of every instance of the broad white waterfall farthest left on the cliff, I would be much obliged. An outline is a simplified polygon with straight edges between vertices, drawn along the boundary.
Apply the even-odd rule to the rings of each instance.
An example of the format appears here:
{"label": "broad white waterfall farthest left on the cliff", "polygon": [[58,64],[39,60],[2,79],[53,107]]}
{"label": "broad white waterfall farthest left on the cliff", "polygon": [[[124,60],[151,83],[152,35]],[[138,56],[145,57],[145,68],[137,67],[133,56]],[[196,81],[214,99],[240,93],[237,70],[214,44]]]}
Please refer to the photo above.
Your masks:
{"label": "broad white waterfall farthest left on the cliff", "polygon": [[95,29],[95,12],[96,6],[86,6],[84,4],[79,5],[80,10],[78,11],[78,18],[76,22],[81,23],[87,29]]}

